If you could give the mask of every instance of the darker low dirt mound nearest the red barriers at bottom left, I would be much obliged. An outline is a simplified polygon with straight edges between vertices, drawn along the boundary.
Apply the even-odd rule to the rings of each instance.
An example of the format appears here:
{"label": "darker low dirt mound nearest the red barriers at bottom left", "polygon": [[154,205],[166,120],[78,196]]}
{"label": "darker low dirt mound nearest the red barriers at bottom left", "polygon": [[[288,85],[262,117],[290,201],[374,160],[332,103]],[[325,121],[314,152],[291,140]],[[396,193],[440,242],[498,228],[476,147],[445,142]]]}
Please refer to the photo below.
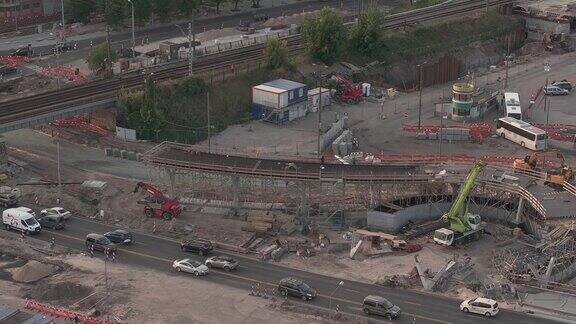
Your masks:
{"label": "darker low dirt mound nearest the red barriers at bottom left", "polygon": [[30,290],[30,298],[43,302],[76,302],[92,293],[92,288],[68,281],[36,285]]}

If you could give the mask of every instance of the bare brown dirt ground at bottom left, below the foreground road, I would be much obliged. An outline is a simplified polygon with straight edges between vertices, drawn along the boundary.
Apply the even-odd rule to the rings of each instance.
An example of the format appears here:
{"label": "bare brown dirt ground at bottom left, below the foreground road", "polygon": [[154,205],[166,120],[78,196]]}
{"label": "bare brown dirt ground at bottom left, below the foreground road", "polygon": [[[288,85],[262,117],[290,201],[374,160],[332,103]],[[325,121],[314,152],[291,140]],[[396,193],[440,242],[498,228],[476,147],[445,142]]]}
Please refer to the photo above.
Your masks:
{"label": "bare brown dirt ground at bottom left, below the foreground road", "polygon": [[[57,249],[46,243],[0,233],[0,304],[22,307],[25,298],[83,313],[98,310],[124,323],[331,323],[311,308],[249,296],[248,292],[150,269],[108,264],[106,295],[103,260]],[[41,251],[41,252],[39,252]],[[56,266],[53,275],[19,283],[6,275],[28,260]],[[36,267],[37,269],[39,267]],[[153,292],[153,293],[152,293]],[[199,294],[198,292],[202,292]],[[343,318],[338,322],[360,323]]]}

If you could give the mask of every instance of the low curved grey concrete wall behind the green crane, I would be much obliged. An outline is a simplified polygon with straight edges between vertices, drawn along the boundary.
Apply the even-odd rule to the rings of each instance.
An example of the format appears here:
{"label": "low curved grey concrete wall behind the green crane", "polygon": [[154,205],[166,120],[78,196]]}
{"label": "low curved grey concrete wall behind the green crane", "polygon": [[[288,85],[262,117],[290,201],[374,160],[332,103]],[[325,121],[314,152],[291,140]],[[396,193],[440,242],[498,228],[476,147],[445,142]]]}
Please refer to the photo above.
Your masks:
{"label": "low curved grey concrete wall behind the green crane", "polygon": [[[371,210],[367,215],[367,225],[370,229],[389,233],[398,232],[408,221],[432,221],[439,219],[450,210],[451,202],[431,203],[410,206],[394,214]],[[515,216],[515,212],[490,206],[470,205],[468,209],[473,214],[479,214],[483,219],[508,220]]]}

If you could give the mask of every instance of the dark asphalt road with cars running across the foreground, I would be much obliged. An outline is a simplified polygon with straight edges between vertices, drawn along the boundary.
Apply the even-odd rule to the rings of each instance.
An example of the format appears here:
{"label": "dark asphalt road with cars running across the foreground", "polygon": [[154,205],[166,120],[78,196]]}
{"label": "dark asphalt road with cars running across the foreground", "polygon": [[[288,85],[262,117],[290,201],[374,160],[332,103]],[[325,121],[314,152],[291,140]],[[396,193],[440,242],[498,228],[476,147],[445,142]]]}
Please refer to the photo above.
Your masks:
{"label": "dark asphalt road with cars running across the foreground", "polygon": [[[144,217],[144,216],[143,216]],[[85,218],[73,217],[62,231],[44,229],[36,238],[49,241],[55,238],[56,244],[71,249],[84,250],[84,239],[88,233],[104,233],[115,229],[113,226],[94,222]],[[273,291],[277,282],[284,277],[296,277],[307,282],[318,292],[318,297],[312,301],[304,302],[289,297],[292,302],[309,304],[311,306],[329,308],[332,294],[332,309],[339,305],[340,311],[370,318],[373,321],[388,322],[375,316],[366,316],[362,313],[361,303],[365,296],[381,295],[400,306],[402,316],[394,321],[398,323],[558,323],[553,320],[536,317],[529,314],[502,310],[495,318],[464,314],[459,310],[459,300],[426,294],[422,292],[391,289],[378,285],[344,280],[344,285],[334,292],[341,279],[314,274],[311,272],[290,269],[273,263],[262,262],[244,255],[236,255],[215,251],[215,254],[228,254],[237,258],[240,266],[236,271],[227,273],[218,269],[212,270],[207,276],[194,277],[190,274],[177,273],[172,269],[175,259],[192,258],[203,261],[205,258],[195,254],[180,251],[179,242],[172,239],[135,233],[135,243],[119,248],[116,262],[129,264],[135,267],[151,268],[158,271],[171,272],[175,276],[189,276],[190,280],[206,280],[220,285],[227,285],[246,290],[248,293],[252,286],[260,285],[267,288],[268,293]],[[102,254],[96,253],[102,258]]]}

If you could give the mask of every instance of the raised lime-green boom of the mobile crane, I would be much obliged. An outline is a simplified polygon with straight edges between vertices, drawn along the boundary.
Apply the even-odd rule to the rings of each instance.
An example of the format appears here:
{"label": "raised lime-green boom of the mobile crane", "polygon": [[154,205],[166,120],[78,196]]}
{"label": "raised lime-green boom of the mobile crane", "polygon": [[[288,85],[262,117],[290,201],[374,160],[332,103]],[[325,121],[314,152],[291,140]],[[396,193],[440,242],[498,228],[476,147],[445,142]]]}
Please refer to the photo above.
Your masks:
{"label": "raised lime-green boom of the mobile crane", "polygon": [[476,179],[480,175],[480,172],[486,166],[486,162],[484,161],[477,161],[474,166],[468,172],[468,176],[462,184],[460,188],[460,192],[458,193],[458,197],[454,200],[450,211],[442,216],[442,219],[450,222],[450,229],[456,232],[464,233],[469,231],[470,224],[465,217],[465,213],[463,212],[463,208],[466,204],[466,200],[476,183]]}

